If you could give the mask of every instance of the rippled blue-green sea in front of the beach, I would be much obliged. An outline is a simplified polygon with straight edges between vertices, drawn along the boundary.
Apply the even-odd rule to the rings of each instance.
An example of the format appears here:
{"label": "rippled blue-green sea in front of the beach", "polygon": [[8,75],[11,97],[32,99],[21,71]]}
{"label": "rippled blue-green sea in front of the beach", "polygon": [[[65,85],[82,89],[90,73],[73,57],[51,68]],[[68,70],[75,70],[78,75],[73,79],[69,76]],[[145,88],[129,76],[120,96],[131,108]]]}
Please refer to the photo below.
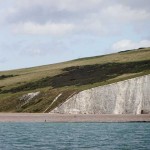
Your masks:
{"label": "rippled blue-green sea in front of the beach", "polygon": [[0,123],[0,150],[150,150],[150,123]]}

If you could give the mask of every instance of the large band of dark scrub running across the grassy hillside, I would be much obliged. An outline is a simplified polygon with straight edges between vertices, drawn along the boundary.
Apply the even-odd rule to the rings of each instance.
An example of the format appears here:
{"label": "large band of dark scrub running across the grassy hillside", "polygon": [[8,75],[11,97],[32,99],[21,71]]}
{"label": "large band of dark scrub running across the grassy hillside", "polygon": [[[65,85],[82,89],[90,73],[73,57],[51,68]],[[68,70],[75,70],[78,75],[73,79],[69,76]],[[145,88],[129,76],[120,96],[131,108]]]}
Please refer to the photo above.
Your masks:
{"label": "large band of dark scrub running across the grassy hillside", "polygon": [[63,69],[64,73],[54,77],[46,77],[35,82],[30,82],[10,90],[1,91],[1,93],[20,92],[35,90],[52,86],[60,88],[64,86],[81,86],[104,82],[117,76],[127,73],[138,73],[150,70],[150,60],[128,63],[106,63],[86,66],[75,66]]}

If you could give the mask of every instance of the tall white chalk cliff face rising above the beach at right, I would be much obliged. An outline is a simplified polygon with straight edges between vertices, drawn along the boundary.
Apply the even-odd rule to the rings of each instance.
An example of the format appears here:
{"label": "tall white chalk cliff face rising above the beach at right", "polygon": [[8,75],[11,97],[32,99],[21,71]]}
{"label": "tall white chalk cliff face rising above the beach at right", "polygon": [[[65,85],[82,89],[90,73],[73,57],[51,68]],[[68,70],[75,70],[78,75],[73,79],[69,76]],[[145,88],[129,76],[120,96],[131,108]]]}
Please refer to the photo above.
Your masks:
{"label": "tall white chalk cliff face rising above the beach at right", "polygon": [[65,114],[141,114],[150,112],[150,75],[82,91],[55,108]]}

